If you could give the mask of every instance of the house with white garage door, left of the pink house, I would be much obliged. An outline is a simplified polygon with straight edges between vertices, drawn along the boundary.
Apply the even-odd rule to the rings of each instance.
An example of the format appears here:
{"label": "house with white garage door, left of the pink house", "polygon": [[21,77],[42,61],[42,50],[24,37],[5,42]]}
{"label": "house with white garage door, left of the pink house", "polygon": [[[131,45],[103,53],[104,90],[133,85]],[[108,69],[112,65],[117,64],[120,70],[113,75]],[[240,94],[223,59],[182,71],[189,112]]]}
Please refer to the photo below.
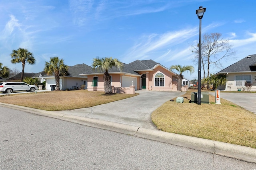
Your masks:
{"label": "house with white garage door, left of the pink house", "polygon": [[[86,70],[91,70],[92,68],[86,64],[76,64],[74,66],[68,67],[68,75],[60,77],[60,90],[66,89],[79,89],[82,85],[85,85],[84,89],[87,89],[87,76],[80,75]],[[45,88],[46,90],[51,90],[51,85],[56,85],[55,77],[53,75],[41,76],[46,80]]]}

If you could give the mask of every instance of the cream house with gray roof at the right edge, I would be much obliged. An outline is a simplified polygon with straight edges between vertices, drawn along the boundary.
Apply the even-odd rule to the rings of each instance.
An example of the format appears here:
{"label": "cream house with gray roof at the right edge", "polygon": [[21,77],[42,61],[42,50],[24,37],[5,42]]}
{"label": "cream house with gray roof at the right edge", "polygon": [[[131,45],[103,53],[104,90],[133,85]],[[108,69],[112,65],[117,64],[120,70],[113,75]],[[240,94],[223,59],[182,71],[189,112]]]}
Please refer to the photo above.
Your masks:
{"label": "cream house with gray roof at the right edge", "polygon": [[[242,60],[224,68],[217,74],[226,74],[227,91],[256,91],[256,55],[249,55]],[[248,89],[246,82],[252,84],[252,87]]]}

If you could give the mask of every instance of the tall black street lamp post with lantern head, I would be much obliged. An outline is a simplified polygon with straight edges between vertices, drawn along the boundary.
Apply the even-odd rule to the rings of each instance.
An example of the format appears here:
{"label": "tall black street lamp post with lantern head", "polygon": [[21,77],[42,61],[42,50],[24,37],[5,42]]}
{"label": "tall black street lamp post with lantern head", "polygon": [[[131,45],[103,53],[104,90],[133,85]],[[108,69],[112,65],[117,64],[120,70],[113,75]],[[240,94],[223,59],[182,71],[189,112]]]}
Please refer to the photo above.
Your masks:
{"label": "tall black street lamp post with lantern head", "polygon": [[198,10],[196,10],[196,15],[200,20],[199,24],[199,57],[198,57],[198,94],[197,94],[197,104],[201,104],[201,19],[204,16],[206,8],[203,8],[202,6],[199,7]]}

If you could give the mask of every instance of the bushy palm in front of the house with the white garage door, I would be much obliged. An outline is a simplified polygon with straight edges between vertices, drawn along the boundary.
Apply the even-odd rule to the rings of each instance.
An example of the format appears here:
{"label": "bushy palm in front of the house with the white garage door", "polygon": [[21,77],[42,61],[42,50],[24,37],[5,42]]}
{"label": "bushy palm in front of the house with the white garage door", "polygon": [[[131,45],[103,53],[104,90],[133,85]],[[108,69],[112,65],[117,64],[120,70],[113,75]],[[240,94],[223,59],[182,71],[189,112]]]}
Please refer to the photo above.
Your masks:
{"label": "bushy palm in front of the house with the white garage door", "polygon": [[56,90],[60,90],[60,76],[66,76],[68,74],[68,66],[64,64],[63,59],[51,57],[49,63],[45,62],[44,72],[47,75],[54,73]]}

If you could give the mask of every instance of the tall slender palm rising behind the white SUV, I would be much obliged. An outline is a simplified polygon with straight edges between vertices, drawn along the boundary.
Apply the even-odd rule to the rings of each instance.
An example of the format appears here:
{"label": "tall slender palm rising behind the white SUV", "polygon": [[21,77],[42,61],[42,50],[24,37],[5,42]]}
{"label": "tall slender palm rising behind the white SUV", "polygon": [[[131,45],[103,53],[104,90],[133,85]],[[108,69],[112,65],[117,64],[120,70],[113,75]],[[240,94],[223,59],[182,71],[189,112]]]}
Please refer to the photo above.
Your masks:
{"label": "tall slender palm rising behind the white SUV", "polygon": [[36,59],[34,58],[33,54],[28,51],[28,49],[23,49],[23,48],[12,50],[12,53],[10,54],[10,56],[12,58],[11,60],[12,64],[22,63],[22,72],[20,77],[20,81],[22,82],[25,64],[28,63],[33,65],[36,63]]}

